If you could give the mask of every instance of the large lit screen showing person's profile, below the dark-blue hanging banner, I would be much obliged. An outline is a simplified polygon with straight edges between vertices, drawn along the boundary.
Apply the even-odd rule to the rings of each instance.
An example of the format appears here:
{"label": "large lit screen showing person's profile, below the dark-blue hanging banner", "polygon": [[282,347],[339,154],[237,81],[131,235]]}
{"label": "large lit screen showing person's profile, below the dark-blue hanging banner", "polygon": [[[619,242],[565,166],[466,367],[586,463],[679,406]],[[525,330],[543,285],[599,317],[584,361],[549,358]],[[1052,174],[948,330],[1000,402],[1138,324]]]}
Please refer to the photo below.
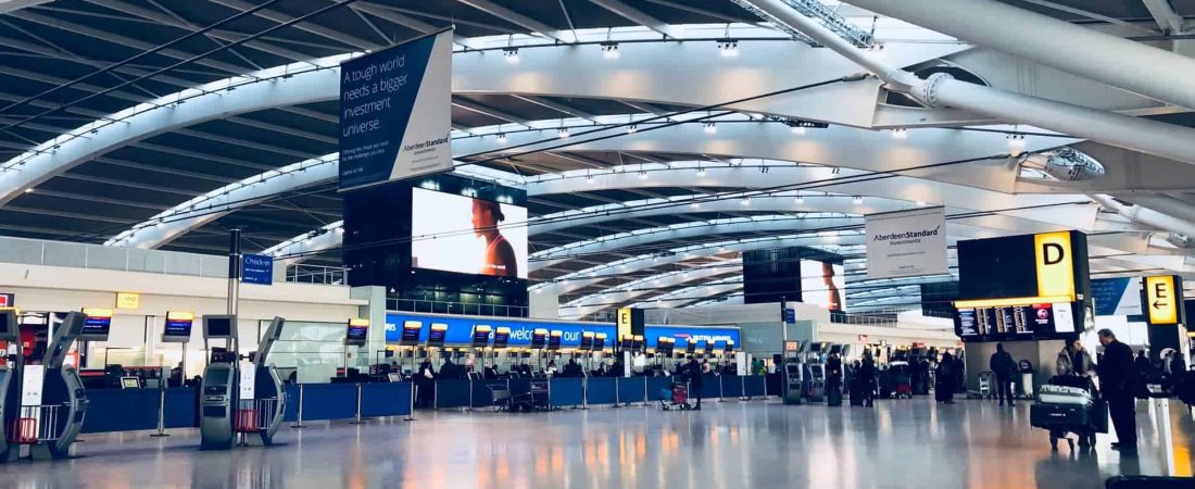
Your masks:
{"label": "large lit screen showing person's profile, below the dark-blue hanging banner", "polygon": [[460,274],[527,277],[527,209],[413,189],[411,265]]}

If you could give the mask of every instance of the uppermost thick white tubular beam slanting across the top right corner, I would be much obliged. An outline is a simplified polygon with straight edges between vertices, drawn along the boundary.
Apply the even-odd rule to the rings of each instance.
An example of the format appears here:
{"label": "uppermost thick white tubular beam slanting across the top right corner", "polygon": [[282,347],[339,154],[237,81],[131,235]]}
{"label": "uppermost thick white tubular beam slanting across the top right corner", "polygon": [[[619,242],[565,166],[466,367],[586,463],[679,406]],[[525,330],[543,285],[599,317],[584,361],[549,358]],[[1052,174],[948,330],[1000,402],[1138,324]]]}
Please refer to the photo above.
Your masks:
{"label": "uppermost thick white tubular beam slanting across the top right corner", "polygon": [[1171,51],[994,0],[847,2],[1134,93],[1195,109],[1195,86],[1176,82],[1195,79],[1195,60]]}

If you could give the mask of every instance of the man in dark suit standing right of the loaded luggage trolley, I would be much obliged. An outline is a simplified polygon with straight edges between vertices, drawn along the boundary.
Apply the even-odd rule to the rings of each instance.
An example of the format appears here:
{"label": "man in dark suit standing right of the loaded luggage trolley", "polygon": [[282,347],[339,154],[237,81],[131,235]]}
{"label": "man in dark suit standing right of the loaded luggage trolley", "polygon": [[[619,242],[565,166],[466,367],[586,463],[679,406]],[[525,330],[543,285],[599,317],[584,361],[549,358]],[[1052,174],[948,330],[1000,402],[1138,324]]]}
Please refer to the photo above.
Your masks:
{"label": "man in dark suit standing right of the loaded luggage trolley", "polygon": [[1113,450],[1136,448],[1136,399],[1133,390],[1136,386],[1136,366],[1133,363],[1133,349],[1116,341],[1116,335],[1109,329],[1099,330],[1099,343],[1104,346],[1104,356],[1098,365],[1099,389],[1108,401],[1108,412],[1116,428],[1117,441]]}

